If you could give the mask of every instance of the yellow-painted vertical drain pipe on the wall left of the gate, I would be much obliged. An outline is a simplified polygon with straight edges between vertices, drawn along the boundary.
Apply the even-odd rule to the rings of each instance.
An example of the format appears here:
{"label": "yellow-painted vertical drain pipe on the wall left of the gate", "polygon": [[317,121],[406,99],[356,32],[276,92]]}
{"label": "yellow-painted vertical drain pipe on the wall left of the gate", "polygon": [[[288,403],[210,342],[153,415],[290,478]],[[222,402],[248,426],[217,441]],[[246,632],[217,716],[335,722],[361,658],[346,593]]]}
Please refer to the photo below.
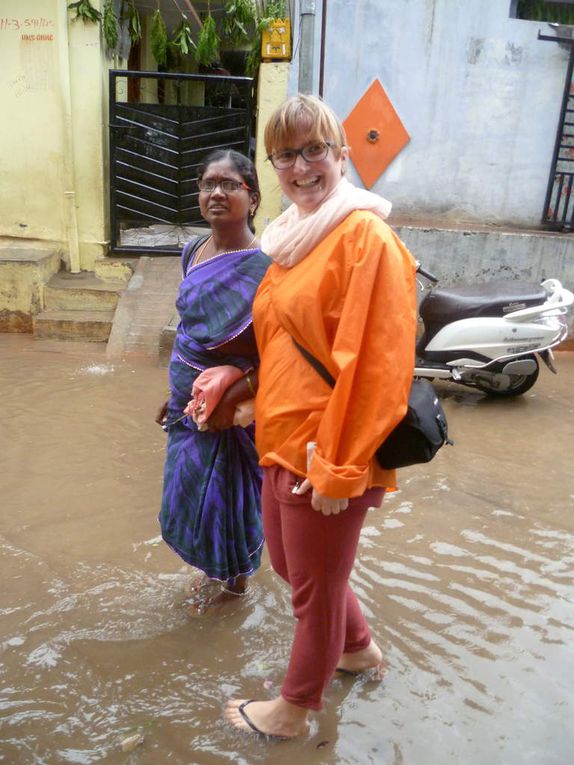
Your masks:
{"label": "yellow-painted vertical drain pipe on the wall left of the gate", "polygon": [[60,10],[59,59],[60,88],[62,94],[62,119],[64,123],[64,211],[66,240],[70,258],[69,270],[80,273],[80,246],[78,242],[78,219],[76,216],[76,185],[74,168],[74,134],[72,130],[72,92],[70,84],[70,50],[68,40],[68,4],[58,3]]}

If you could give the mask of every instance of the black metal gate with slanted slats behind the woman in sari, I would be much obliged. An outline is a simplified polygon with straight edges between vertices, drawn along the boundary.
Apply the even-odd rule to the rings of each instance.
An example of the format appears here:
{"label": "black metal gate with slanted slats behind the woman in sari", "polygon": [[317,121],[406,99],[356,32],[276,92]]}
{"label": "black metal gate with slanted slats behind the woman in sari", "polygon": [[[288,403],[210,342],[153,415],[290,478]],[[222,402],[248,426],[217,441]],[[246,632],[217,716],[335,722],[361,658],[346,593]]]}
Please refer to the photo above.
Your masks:
{"label": "black metal gate with slanted slats behind the woman in sari", "polygon": [[193,228],[197,166],[216,148],[249,156],[253,80],[110,71],[112,253],[177,253]]}

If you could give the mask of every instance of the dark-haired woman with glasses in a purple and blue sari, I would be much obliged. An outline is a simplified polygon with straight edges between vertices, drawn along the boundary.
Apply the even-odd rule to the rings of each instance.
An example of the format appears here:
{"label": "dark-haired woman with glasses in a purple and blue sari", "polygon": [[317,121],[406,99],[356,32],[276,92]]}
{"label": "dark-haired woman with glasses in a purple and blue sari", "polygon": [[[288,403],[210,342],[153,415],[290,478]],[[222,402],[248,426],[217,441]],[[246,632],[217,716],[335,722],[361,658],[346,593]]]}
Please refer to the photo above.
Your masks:
{"label": "dark-haired woman with glasses in a purple and blue sari", "polygon": [[[251,306],[270,263],[253,233],[259,183],[253,163],[232,150],[209,155],[198,172],[199,206],[211,235],[183,250],[180,315],[169,367],[170,398],[158,414],[168,433],[159,516],[162,536],[204,572],[195,605],[245,591],[260,565],[261,475],[253,425],[233,425],[235,408],[253,397],[258,357]],[[198,429],[184,412],[206,369],[231,365],[238,379]],[[205,582],[221,589],[206,600]]]}

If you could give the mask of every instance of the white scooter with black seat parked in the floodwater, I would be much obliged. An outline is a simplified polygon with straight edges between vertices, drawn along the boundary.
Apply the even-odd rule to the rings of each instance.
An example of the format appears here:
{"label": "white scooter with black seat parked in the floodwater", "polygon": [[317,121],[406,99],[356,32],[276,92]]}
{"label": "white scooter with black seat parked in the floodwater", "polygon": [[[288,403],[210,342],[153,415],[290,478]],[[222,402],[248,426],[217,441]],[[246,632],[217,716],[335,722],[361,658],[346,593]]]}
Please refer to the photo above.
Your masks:
{"label": "white scooter with black seat parked in the floodwater", "polygon": [[[429,282],[438,279],[417,264]],[[419,282],[420,283],[420,282]],[[568,335],[574,294],[558,279],[492,281],[433,288],[419,305],[424,333],[415,377],[452,380],[490,394],[519,396],[538,378],[539,356],[554,373],[551,348]]]}

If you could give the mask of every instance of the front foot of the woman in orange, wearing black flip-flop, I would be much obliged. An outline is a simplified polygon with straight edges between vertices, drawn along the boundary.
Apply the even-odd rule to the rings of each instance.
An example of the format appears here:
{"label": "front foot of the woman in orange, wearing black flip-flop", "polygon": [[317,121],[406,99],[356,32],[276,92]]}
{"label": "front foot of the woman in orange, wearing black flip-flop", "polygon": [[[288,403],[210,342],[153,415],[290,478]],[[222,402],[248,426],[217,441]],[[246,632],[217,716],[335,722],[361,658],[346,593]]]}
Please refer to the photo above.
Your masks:
{"label": "front foot of the woman in orange, wearing black flip-flop", "polygon": [[223,711],[225,721],[237,730],[281,739],[307,733],[307,715],[307,709],[290,704],[282,696],[271,701],[232,699]]}

